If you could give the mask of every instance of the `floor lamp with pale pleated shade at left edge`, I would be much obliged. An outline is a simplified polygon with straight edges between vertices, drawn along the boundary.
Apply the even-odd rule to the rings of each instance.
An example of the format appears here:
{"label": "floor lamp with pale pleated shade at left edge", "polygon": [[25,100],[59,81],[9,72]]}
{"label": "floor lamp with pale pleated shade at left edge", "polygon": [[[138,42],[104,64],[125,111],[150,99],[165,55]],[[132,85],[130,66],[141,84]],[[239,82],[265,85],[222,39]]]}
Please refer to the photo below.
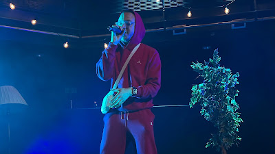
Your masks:
{"label": "floor lamp with pale pleated shade at left edge", "polygon": [[[20,112],[28,104],[25,102],[21,94],[13,86],[0,86],[0,110],[7,114]],[[10,121],[8,120],[8,142],[10,153]]]}

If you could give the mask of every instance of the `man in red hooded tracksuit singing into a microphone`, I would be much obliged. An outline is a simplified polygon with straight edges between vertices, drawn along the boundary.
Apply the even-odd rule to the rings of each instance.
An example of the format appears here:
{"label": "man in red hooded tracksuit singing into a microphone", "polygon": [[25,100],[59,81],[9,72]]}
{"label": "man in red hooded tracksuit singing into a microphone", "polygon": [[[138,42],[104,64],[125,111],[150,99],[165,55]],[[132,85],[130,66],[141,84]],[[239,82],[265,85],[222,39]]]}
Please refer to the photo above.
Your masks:
{"label": "man in red hooded tracksuit singing into a microphone", "polygon": [[[137,12],[126,10],[115,25],[121,34],[111,32],[111,42],[96,64],[97,75],[103,81],[111,79],[111,88],[134,47],[145,35],[142,18]],[[135,140],[138,154],[156,154],[153,133],[153,97],[160,88],[161,63],[159,53],[146,44],[140,44],[127,65],[111,110],[104,116],[104,129],[100,144],[101,154],[123,154],[128,135]]]}

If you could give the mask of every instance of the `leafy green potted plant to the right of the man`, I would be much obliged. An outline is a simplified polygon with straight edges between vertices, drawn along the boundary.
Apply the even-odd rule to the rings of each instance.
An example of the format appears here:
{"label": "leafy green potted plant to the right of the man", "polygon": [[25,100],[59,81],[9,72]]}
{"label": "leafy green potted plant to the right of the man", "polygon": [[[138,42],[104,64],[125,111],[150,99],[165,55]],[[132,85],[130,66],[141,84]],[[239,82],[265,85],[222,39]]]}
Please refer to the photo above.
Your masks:
{"label": "leafy green potted plant to the right of the man", "polygon": [[239,117],[240,113],[236,112],[239,109],[235,99],[239,93],[239,90],[236,90],[239,73],[233,75],[230,68],[220,66],[220,61],[221,57],[216,49],[213,59],[210,58],[209,62],[192,62],[191,67],[199,73],[203,82],[192,86],[189,105],[192,108],[192,105],[200,103],[201,115],[217,128],[216,133],[213,133],[206,143],[206,148],[212,145],[222,154],[226,154],[232,144],[239,144],[241,138],[237,133],[239,123],[243,120]]}

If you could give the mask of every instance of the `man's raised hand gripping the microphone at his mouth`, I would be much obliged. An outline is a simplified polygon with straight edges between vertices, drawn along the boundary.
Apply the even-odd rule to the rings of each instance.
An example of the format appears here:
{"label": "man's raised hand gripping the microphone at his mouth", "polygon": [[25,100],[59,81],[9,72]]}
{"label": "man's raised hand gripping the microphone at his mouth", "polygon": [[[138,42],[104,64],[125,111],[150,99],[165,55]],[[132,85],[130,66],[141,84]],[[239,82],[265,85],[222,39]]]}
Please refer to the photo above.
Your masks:
{"label": "man's raised hand gripping the microphone at his mouth", "polygon": [[126,29],[122,28],[121,26],[118,25],[113,25],[112,27],[108,27],[109,31],[111,31],[111,43],[117,45],[122,36],[124,36]]}

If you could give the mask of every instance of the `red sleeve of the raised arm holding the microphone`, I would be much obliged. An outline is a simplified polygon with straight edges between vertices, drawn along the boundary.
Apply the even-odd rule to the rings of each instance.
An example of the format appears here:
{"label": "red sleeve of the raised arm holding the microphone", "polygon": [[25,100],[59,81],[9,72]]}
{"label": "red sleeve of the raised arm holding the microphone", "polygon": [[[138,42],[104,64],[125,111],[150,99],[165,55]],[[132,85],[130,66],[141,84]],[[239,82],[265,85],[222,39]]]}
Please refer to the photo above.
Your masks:
{"label": "red sleeve of the raised arm holding the microphone", "polygon": [[109,42],[107,49],[102,51],[102,56],[96,63],[96,74],[103,81],[107,81],[113,77],[115,64],[115,49],[118,46]]}

